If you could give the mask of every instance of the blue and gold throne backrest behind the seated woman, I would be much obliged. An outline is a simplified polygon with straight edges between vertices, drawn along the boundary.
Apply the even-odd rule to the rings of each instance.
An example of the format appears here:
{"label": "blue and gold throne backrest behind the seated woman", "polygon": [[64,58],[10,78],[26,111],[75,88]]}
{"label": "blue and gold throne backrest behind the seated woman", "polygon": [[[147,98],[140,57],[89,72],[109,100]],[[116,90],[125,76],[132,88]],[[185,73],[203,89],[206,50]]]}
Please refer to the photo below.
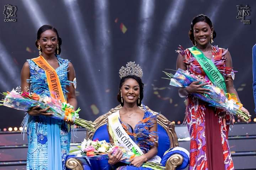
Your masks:
{"label": "blue and gold throne backrest behind the seated woman", "polygon": [[[117,112],[120,110],[122,106],[119,104],[117,107],[111,109],[106,114],[101,115],[98,117],[94,123],[96,124],[96,130],[94,132],[87,131],[87,139],[91,140],[106,140],[109,142],[109,136],[107,131],[107,117],[108,115]],[[154,114],[158,114],[154,111],[152,111],[149,107],[146,106],[146,109],[148,109],[150,112]],[[178,146],[178,138],[176,135],[176,132],[174,130],[174,124],[171,123],[166,117],[164,117],[162,114],[158,115],[157,118],[158,121],[158,155],[162,157],[164,155],[164,152],[168,150],[169,148],[174,148]]]}

